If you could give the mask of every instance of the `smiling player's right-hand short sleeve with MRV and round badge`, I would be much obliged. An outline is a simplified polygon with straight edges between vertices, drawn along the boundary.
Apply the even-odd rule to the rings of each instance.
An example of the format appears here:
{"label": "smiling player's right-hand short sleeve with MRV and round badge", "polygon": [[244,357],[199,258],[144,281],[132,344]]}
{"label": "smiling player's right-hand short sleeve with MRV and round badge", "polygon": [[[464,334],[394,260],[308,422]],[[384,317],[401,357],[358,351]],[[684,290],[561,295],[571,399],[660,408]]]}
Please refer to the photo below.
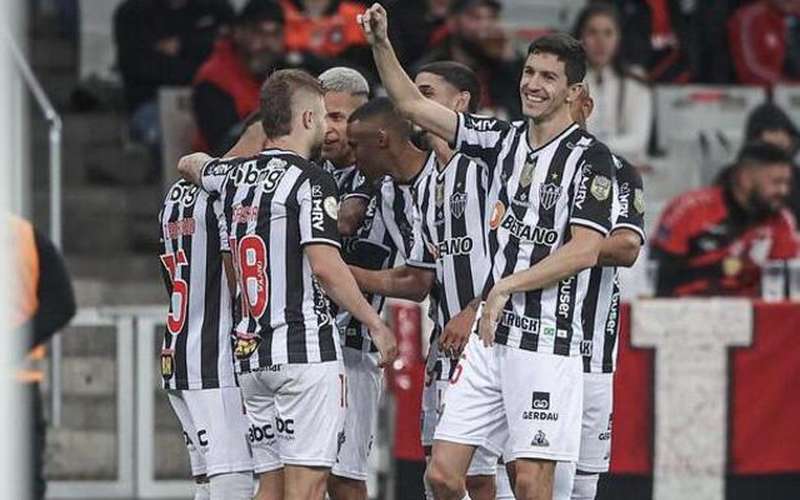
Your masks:
{"label": "smiling player's right-hand short sleeve with MRV and round badge", "polygon": [[611,230],[614,193],[614,160],[601,143],[594,143],[583,155],[575,175],[570,224],[594,229],[604,236]]}

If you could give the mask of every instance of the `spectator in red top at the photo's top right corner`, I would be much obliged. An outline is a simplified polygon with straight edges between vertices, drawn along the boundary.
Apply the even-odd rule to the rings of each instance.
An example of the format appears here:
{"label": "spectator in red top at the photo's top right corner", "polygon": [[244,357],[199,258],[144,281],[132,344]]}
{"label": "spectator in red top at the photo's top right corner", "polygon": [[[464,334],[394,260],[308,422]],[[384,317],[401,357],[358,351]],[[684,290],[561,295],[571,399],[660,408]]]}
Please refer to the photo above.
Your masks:
{"label": "spectator in red top at the photo's top right corner", "polygon": [[739,83],[800,81],[800,0],[758,0],[728,22]]}

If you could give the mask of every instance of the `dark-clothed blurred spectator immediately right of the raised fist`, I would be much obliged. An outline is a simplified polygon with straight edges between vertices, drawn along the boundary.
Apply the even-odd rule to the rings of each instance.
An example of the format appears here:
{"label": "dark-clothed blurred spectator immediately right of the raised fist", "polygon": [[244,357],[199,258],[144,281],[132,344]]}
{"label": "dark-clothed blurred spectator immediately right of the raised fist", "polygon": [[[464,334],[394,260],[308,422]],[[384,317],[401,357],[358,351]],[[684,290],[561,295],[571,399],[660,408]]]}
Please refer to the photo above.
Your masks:
{"label": "dark-clothed blurred spectator immediately right of the raised fist", "polygon": [[403,66],[423,57],[447,35],[451,0],[395,0],[389,11],[389,37]]}

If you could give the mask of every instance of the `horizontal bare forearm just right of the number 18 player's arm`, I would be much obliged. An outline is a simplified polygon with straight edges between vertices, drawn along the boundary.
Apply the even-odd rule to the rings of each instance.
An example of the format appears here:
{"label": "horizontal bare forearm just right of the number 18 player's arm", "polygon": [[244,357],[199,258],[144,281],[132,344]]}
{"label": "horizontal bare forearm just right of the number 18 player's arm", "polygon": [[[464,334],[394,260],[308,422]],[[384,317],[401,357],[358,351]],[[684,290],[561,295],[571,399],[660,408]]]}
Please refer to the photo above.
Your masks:
{"label": "horizontal bare forearm just right of the number 18 player's arm", "polygon": [[382,271],[350,266],[350,271],[364,292],[415,302],[425,300],[436,278],[433,271],[412,266],[399,266]]}

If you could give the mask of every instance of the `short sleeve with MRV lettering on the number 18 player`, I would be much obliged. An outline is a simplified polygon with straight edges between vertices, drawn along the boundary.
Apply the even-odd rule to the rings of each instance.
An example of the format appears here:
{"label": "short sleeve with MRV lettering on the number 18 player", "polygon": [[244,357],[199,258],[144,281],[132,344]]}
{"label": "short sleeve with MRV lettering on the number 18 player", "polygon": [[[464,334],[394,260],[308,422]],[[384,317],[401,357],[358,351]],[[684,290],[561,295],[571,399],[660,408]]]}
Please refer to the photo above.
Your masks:
{"label": "short sleeve with MRV lettering on the number 18 player", "polygon": [[322,243],[341,248],[336,226],[339,199],[333,177],[322,170],[309,175],[297,190],[297,203],[300,207],[300,244]]}

